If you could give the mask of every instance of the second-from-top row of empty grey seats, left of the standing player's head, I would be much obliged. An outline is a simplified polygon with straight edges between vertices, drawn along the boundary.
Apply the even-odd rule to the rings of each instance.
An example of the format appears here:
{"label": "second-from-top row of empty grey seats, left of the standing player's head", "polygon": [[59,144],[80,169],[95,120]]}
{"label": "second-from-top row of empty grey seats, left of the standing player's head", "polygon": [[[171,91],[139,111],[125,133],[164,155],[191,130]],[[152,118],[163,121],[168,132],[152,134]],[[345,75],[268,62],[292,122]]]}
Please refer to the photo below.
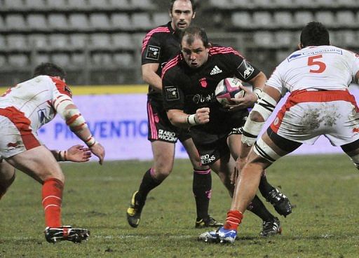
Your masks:
{"label": "second-from-top row of empty grey seats, left of the standing player's head", "polygon": [[146,30],[152,27],[163,25],[170,20],[167,13],[63,13],[29,14],[21,13],[0,16],[0,29],[7,31],[27,31],[27,30],[83,30],[94,29],[102,30]]}

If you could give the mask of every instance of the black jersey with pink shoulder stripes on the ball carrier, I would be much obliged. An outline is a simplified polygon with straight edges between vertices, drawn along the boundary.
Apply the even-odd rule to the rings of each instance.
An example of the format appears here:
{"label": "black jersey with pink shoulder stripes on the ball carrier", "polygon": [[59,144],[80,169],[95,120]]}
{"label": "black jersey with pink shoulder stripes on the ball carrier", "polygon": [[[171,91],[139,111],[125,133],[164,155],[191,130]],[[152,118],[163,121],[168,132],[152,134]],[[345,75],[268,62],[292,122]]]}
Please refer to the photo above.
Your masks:
{"label": "black jersey with pink shoulder stripes on the ball carrier", "polygon": [[229,112],[215,98],[215,88],[224,78],[236,76],[242,81],[250,81],[259,74],[245,58],[224,46],[212,46],[208,60],[198,69],[190,68],[182,54],[177,55],[163,67],[163,106],[166,110],[180,109],[187,114],[195,114],[201,107],[210,107],[210,122],[197,125],[208,132],[220,131],[219,125],[231,126],[231,119],[243,111]]}

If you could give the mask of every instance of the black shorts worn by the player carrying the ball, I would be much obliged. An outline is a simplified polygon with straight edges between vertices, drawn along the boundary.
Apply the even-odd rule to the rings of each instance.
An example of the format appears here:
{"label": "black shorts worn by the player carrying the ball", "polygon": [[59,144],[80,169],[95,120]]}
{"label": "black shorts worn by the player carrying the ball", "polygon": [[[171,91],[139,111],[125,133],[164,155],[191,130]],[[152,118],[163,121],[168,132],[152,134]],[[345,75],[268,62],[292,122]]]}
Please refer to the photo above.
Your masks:
{"label": "black shorts worn by the player carrying the ball", "polygon": [[[233,128],[229,128],[229,124],[222,125],[223,133],[210,133],[197,126],[191,128],[191,137],[200,155],[202,165],[211,165],[222,156],[229,154],[227,137],[229,137],[229,135],[242,134],[243,125],[245,123],[245,119],[243,118],[247,116],[248,113],[243,112],[242,118],[238,117],[238,120],[232,120],[231,126],[233,126]],[[221,125],[218,126],[221,127]]]}

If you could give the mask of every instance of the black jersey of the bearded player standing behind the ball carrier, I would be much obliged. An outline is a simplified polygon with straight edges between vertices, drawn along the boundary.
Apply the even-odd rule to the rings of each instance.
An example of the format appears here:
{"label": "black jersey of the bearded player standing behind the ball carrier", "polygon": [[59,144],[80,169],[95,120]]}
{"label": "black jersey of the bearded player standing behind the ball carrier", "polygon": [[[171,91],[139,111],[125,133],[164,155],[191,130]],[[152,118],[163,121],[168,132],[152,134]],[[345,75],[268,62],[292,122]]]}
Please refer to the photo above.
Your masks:
{"label": "black jersey of the bearded player standing behind the ball carrier", "polygon": [[[179,35],[171,27],[171,22],[152,29],[142,41],[142,64],[160,64],[156,74],[161,76],[162,68],[181,50]],[[162,100],[161,92],[154,91],[149,85],[149,96]]]}

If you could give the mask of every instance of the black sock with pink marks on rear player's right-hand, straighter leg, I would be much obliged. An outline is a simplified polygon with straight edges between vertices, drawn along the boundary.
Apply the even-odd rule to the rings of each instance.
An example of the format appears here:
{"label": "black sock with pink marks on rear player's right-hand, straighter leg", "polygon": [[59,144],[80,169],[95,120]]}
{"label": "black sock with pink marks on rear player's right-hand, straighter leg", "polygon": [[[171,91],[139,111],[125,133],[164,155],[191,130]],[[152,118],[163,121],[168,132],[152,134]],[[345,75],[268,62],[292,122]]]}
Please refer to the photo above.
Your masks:
{"label": "black sock with pink marks on rear player's right-hand, straighter leg", "polygon": [[210,205],[210,196],[212,194],[212,176],[210,169],[194,170],[192,189],[196,201],[197,220],[209,217],[208,207]]}

